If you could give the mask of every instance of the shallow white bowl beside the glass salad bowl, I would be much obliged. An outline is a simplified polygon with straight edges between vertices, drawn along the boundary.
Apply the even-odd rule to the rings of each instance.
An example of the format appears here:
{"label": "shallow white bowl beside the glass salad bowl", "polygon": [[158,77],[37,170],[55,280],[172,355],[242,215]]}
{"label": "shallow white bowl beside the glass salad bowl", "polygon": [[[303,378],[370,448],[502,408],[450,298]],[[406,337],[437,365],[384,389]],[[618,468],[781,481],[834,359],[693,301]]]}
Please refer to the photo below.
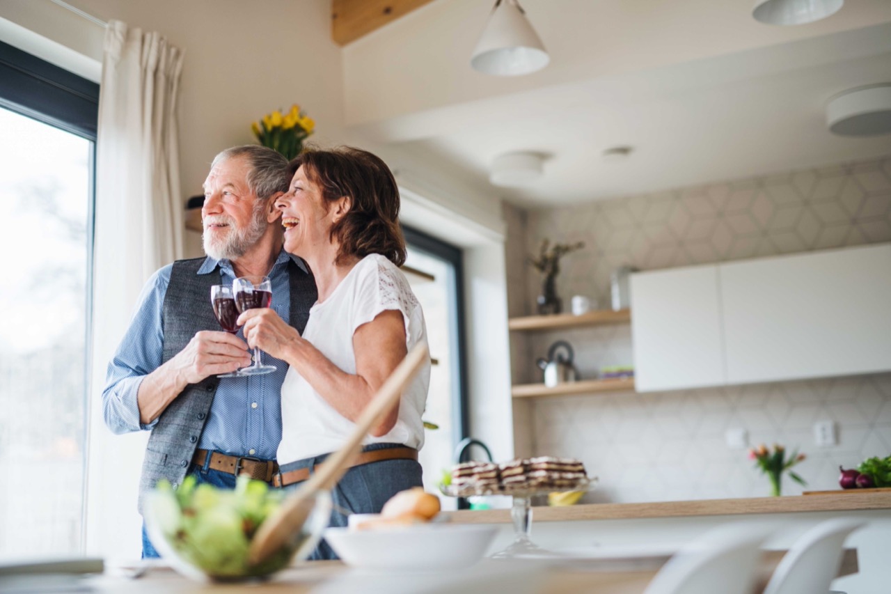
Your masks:
{"label": "shallow white bowl beside the glass salad bowl", "polygon": [[329,528],[324,538],[347,565],[417,571],[474,565],[496,532],[496,526],[432,523],[359,531]]}

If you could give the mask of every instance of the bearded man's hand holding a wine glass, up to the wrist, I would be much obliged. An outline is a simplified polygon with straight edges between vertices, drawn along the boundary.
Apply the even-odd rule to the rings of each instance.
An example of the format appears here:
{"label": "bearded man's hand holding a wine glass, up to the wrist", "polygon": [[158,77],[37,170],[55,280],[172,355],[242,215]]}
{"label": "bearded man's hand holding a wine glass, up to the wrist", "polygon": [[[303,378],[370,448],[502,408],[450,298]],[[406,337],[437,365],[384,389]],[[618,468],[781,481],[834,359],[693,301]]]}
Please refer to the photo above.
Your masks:
{"label": "bearded man's hand holding a wine glass, up to the wrist", "polygon": [[210,375],[248,367],[250,353],[248,345],[234,334],[202,330],[169,363],[181,381],[197,384]]}

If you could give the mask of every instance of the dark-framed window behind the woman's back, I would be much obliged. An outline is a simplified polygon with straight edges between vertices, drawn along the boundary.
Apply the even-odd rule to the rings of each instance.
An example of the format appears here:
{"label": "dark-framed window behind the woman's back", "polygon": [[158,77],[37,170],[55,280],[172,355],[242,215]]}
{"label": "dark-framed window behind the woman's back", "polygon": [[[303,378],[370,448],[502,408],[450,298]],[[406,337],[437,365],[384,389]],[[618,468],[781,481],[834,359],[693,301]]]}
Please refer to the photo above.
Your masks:
{"label": "dark-framed window behind the woman's back", "polygon": [[[454,448],[466,436],[467,428],[462,253],[429,235],[409,228],[404,231],[408,243],[404,270],[424,310],[433,358],[424,420],[437,428],[425,430],[420,461],[424,488],[436,493],[442,471],[451,467]],[[454,499],[443,499],[443,507],[454,508]]]}

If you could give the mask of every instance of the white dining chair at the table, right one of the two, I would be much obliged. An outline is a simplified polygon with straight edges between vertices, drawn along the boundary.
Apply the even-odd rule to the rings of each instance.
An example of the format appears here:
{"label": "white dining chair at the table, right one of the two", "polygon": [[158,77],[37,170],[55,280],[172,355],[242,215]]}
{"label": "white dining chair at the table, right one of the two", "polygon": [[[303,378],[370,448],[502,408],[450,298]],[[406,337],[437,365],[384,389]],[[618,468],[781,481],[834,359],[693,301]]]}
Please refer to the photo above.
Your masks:
{"label": "white dining chair at the table, right one of the two", "polygon": [[826,594],[838,575],[845,539],[863,524],[854,518],[834,518],[802,534],[773,570],[764,594]]}

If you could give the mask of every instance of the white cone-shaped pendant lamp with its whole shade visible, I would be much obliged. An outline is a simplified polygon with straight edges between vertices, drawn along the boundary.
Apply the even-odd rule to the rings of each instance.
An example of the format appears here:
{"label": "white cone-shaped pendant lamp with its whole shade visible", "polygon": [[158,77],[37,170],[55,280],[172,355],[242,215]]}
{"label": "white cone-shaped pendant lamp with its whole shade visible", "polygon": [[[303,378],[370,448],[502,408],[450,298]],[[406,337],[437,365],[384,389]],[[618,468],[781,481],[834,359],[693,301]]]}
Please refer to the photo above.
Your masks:
{"label": "white cone-shaped pendant lamp with its whole shade visible", "polygon": [[497,0],[470,66],[496,77],[516,77],[541,70],[551,61],[517,0]]}

